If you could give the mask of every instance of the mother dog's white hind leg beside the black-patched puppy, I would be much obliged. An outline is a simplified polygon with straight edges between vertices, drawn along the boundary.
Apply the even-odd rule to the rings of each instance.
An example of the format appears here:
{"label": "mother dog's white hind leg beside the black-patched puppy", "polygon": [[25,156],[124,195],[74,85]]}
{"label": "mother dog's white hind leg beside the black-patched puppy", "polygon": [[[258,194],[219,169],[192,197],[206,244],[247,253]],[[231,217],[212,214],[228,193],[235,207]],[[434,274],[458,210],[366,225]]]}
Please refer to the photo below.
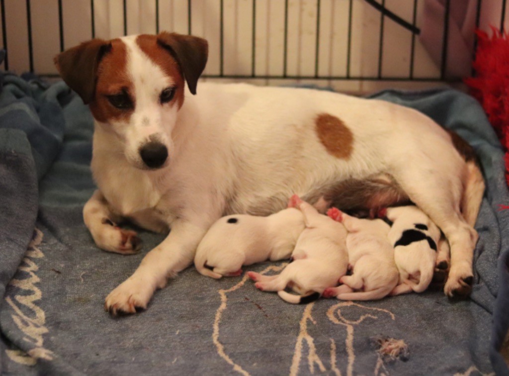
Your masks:
{"label": "mother dog's white hind leg beside the black-patched puppy", "polygon": [[402,166],[398,182],[410,199],[443,231],[450,245],[450,271],[444,287],[449,297],[466,297],[472,290],[473,250],[477,232],[460,212],[462,183],[457,172],[436,171],[440,161]]}

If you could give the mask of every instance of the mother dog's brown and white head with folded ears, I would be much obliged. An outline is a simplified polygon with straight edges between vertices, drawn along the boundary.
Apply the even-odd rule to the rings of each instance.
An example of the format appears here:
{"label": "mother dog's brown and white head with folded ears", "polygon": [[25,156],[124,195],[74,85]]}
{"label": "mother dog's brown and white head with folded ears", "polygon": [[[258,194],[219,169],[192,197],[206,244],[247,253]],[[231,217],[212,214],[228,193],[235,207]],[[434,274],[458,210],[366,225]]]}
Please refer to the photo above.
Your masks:
{"label": "mother dog's brown and white head with folded ears", "polygon": [[90,105],[99,126],[116,135],[128,162],[159,169],[172,156],[185,83],[196,94],[207,41],[162,32],[93,39],[54,59],[64,81]]}

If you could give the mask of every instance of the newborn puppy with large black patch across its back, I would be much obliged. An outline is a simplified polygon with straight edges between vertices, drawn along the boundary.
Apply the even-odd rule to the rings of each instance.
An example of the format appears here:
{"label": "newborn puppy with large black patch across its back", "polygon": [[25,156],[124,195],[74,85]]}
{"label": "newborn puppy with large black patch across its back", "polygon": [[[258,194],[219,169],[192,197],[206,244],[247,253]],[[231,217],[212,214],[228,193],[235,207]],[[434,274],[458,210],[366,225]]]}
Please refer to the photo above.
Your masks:
{"label": "newborn puppy with large black patch across its back", "polygon": [[388,238],[400,272],[391,295],[426,290],[433,278],[440,230],[417,206],[389,207],[385,215],[392,221]]}

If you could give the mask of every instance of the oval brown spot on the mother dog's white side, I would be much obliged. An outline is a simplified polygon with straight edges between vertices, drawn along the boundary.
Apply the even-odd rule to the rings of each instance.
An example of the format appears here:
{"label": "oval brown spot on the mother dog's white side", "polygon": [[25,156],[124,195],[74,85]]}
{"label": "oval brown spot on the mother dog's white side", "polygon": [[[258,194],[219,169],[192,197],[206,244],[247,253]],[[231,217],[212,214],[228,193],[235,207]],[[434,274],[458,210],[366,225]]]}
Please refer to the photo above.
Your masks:
{"label": "oval brown spot on the mother dog's white side", "polygon": [[327,152],[336,158],[348,159],[353,149],[353,134],[345,123],[330,114],[320,114],[315,120],[318,139]]}

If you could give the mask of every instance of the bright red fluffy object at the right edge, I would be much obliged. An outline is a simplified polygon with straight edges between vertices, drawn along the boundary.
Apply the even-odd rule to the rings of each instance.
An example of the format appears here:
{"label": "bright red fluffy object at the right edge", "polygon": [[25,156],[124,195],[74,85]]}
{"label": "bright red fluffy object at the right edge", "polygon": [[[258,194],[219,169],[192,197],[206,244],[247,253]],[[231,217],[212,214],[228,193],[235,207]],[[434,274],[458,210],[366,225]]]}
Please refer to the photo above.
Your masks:
{"label": "bright red fluffy object at the right edge", "polygon": [[492,29],[491,38],[478,30],[472,67],[475,77],[465,79],[471,94],[482,104],[505,148],[505,178],[509,184],[509,36]]}

